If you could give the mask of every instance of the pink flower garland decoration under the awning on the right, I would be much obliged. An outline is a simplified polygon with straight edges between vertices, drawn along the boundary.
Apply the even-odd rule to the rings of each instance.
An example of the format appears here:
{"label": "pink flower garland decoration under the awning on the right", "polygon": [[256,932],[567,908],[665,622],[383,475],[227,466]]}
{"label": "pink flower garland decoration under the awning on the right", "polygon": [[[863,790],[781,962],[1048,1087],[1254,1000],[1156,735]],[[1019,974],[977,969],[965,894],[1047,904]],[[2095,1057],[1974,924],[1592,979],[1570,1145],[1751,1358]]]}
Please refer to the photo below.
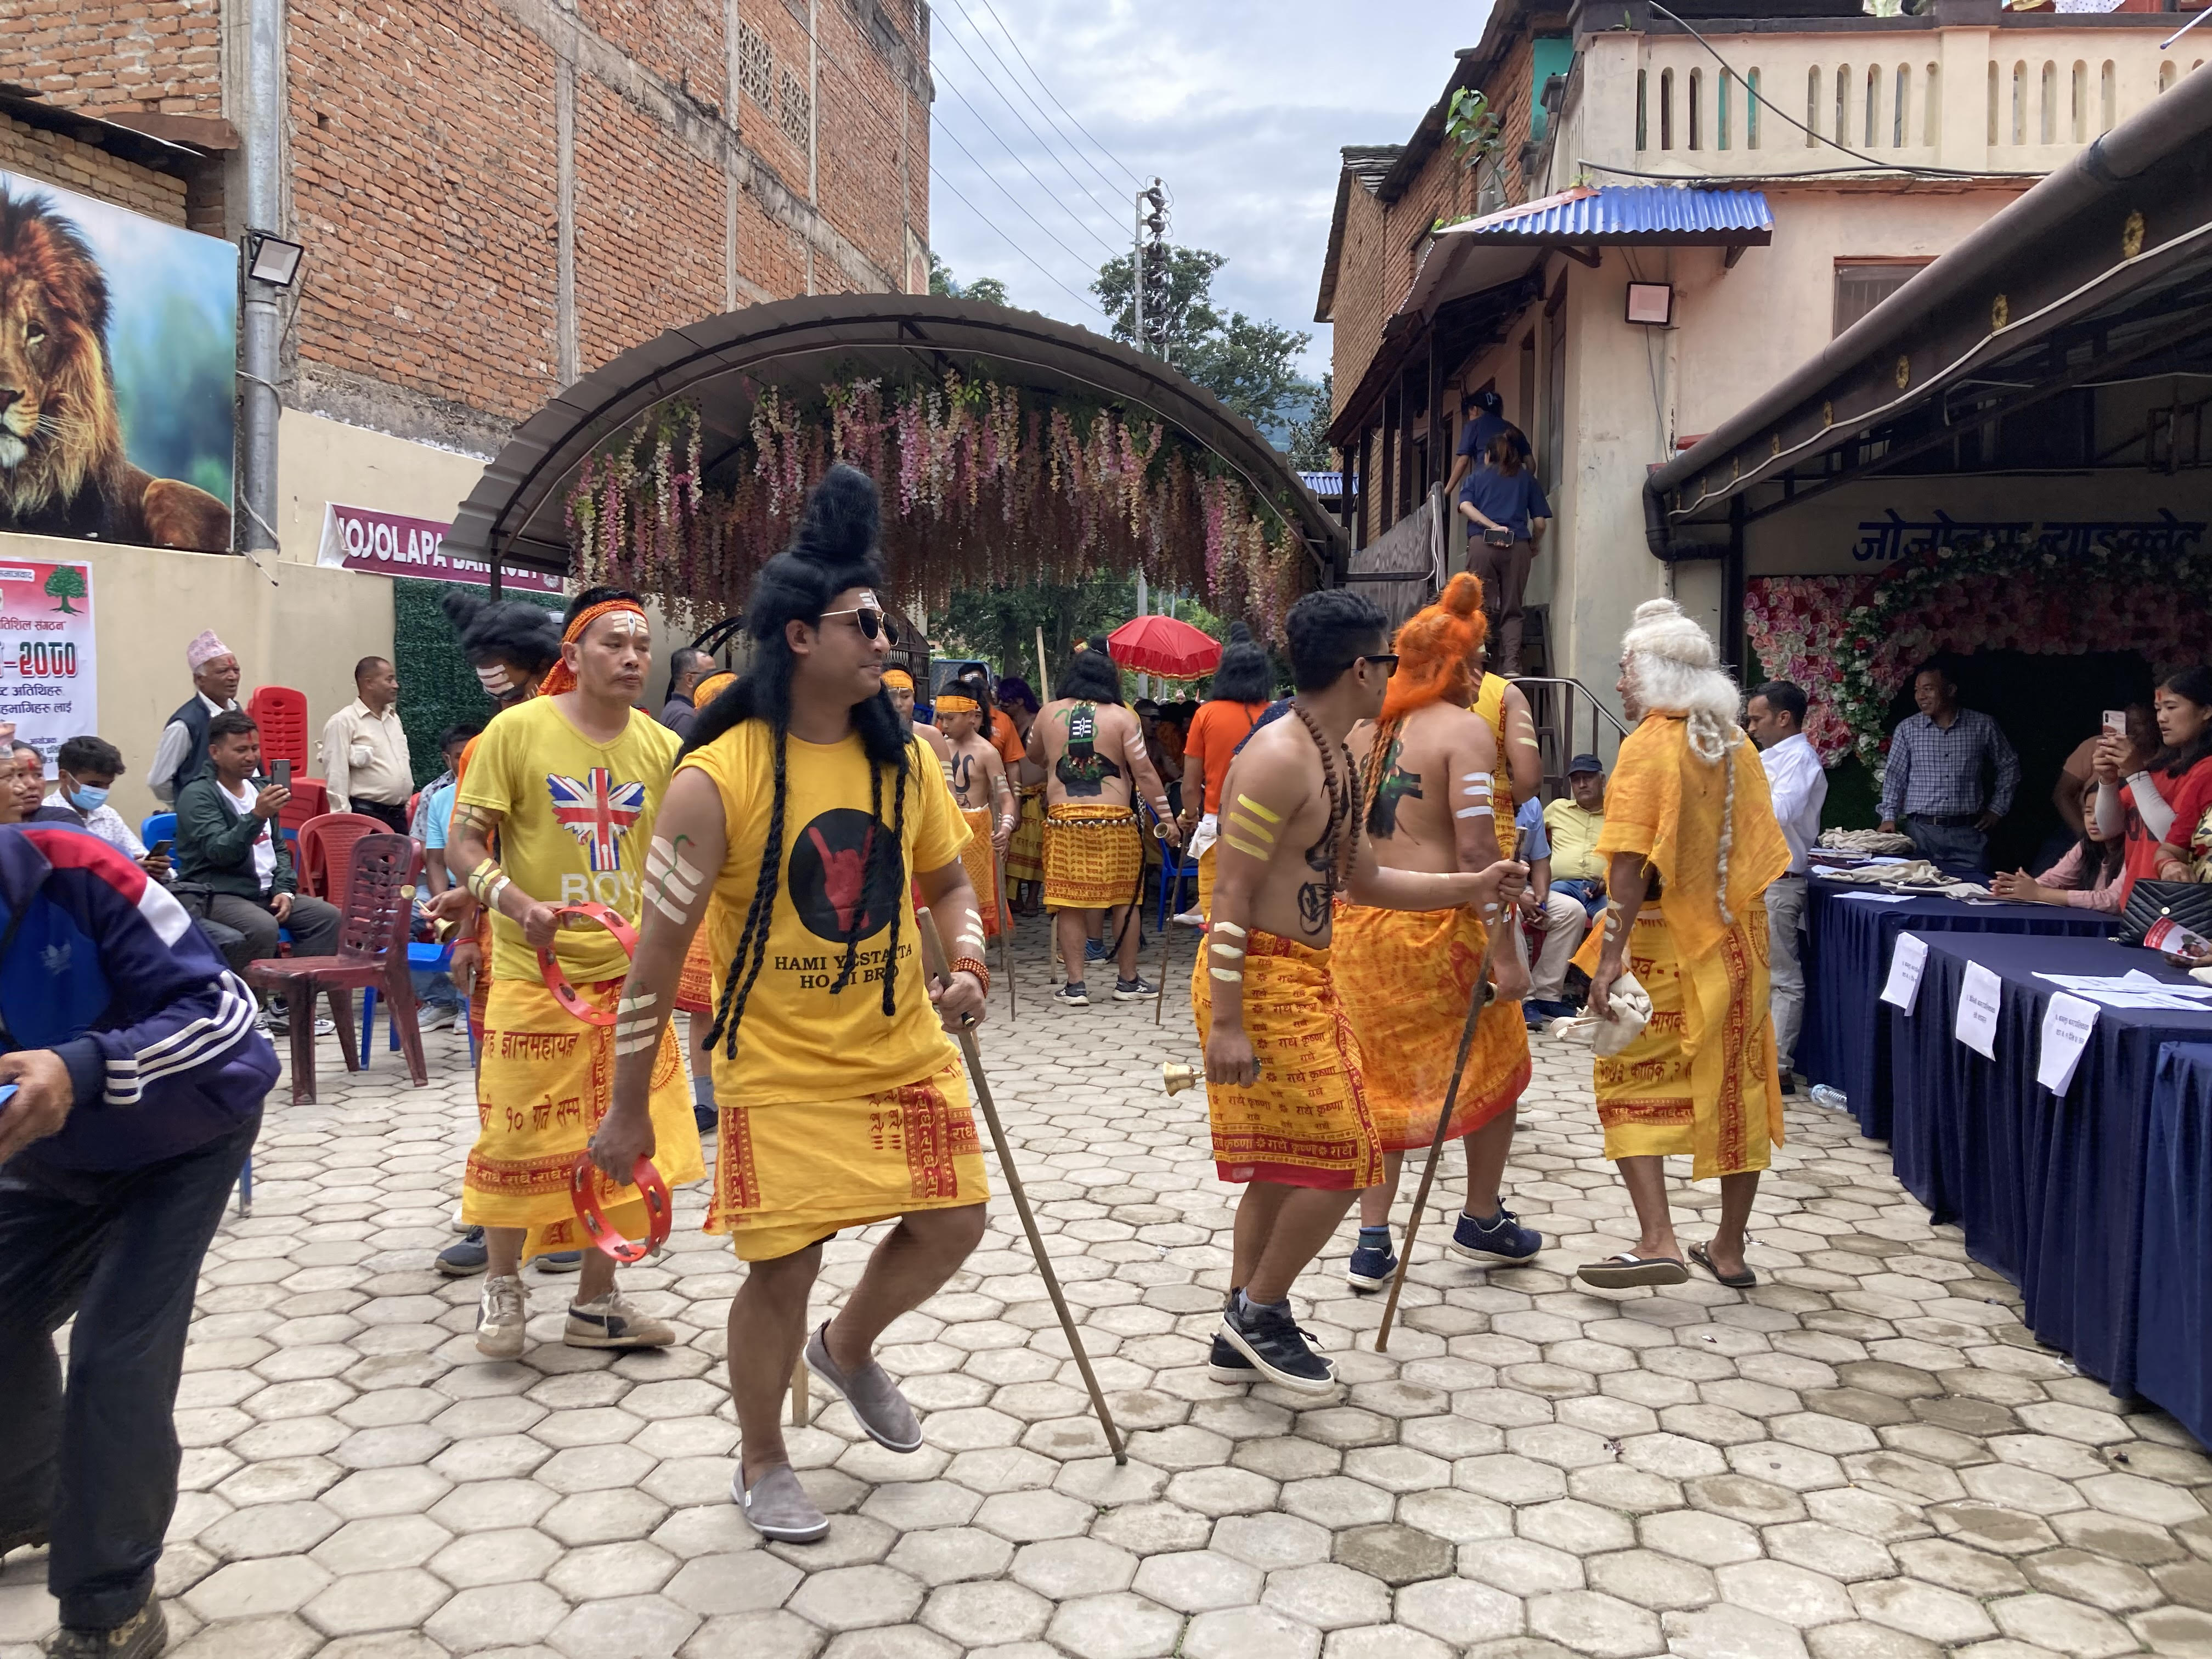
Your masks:
{"label": "pink flower garland decoration under the awning on the right", "polygon": [[2166,675],[2201,661],[2212,633],[2212,551],[2128,535],[2059,555],[2039,542],[1962,542],[1878,577],[1761,577],[1745,633],[1761,666],[1805,688],[1807,737],[1834,763],[1880,772],[1889,703],[1940,653],[2066,657],[2137,650]]}

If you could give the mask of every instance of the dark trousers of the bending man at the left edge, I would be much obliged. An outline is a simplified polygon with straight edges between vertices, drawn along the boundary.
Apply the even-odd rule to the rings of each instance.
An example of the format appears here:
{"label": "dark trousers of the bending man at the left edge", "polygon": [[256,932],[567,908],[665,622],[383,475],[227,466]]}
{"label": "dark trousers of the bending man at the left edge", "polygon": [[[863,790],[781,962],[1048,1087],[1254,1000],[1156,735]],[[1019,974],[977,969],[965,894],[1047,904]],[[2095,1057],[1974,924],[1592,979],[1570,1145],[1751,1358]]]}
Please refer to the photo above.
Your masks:
{"label": "dark trousers of the bending man at the left edge", "polygon": [[[111,1110],[97,1102],[77,1110]],[[113,1630],[153,1595],[177,1509],[177,1378],[199,1259],[261,1113],[137,1170],[0,1168],[0,1533],[46,1526],[62,1624]],[[69,1385],[53,1332],[75,1314]]]}

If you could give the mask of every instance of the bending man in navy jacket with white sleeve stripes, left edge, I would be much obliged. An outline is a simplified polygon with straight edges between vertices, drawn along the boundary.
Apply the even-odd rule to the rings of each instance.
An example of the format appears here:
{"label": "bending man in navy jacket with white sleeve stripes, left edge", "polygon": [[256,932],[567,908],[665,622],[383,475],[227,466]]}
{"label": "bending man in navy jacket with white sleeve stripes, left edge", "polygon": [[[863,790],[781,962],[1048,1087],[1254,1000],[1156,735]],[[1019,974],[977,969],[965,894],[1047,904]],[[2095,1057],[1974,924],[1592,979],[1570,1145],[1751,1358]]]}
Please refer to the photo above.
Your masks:
{"label": "bending man in navy jacket with white sleeve stripes, left edge", "polygon": [[[0,827],[0,1555],[53,1544],[46,1652],[144,1659],[199,1261],[276,1051],[177,900],[104,841]],[[69,1385],[53,1329],[75,1316]]]}

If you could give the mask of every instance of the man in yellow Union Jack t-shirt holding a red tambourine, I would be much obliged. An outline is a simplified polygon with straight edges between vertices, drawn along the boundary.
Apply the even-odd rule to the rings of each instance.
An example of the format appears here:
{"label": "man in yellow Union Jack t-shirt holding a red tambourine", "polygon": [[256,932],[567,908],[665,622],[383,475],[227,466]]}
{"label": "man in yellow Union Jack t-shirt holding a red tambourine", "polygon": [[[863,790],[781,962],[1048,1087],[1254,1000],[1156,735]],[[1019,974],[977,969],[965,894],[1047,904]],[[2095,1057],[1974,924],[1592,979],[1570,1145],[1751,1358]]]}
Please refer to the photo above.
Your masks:
{"label": "man in yellow Union Jack t-shirt holding a red tambourine", "polygon": [[[575,993],[613,1004],[628,960],[599,927],[566,929],[564,905],[641,909],[641,867],[668,790],[677,737],[633,708],[650,666],[639,599],[591,588],[568,606],[562,659],[540,695],[504,710],[469,757],[447,836],[456,874],[491,911],[491,993],[476,1071],[478,1139],[462,1181],[462,1221],[484,1228],[489,1252],[476,1347],[515,1358],[529,1318],[522,1263],[582,1241],[568,1170],[608,1097],[622,1033],[577,1018],[538,960],[553,960]],[[491,856],[498,836],[500,856]],[[672,1186],[706,1175],[684,1086],[684,1053],[666,1037],[650,1057],[659,1172]],[[622,1179],[628,1181],[628,1166]],[[646,1230],[644,1197],[608,1206],[628,1237]],[[615,1290],[615,1261],[584,1252],[584,1274],[562,1336],[571,1347],[661,1347],[675,1332]]]}

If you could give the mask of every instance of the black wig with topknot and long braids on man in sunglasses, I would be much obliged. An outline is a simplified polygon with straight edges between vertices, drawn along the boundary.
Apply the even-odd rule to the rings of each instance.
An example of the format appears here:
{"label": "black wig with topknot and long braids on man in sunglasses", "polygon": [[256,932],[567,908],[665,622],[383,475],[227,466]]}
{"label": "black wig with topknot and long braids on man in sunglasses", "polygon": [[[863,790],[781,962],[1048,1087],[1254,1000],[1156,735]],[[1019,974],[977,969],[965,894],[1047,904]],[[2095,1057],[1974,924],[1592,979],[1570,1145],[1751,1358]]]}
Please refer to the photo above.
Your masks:
{"label": "black wig with topknot and long braids on man in sunglasses", "polygon": [[[768,807],[768,836],[761,843],[761,869],[752,880],[752,905],[745,909],[745,929],[739,933],[737,951],[730,958],[721,984],[721,1000],[714,1006],[714,1024],[708,1026],[706,1046],[723,1044],[723,1055],[737,1057],[737,1029],[745,1018],[745,1002],[768,962],[768,936],[776,914],[776,889],[783,885],[783,812],[790,801],[787,750],[792,730],[792,672],[799,659],[792,655],[785,624],[818,624],[830,602],[847,588],[880,588],[885,584],[883,564],[876,560],[876,538],[880,509],[876,484],[856,467],[832,467],[814,493],[807,495],[807,511],[792,544],[761,566],[752,595],[745,604],[745,633],[752,635],[752,666],[712,703],[699,710],[692,734],[684,741],[684,754],[701,750],[723,732],[745,721],[765,721],[774,737],[774,792]],[[898,1011],[898,936],[905,922],[905,838],[907,838],[907,776],[911,772],[911,734],[891,708],[891,699],[880,690],[852,708],[852,726],[860,734],[867,754],[869,776],[869,832],[863,852],[860,916],[867,914],[867,896],[878,887],[896,894],[891,905],[891,940],[883,971],[883,1013]],[[883,776],[891,774],[891,823],[883,823]],[[887,834],[880,834],[887,827]],[[830,987],[836,995],[852,984],[860,958],[860,920],[854,920],[845,938],[845,958]]]}

